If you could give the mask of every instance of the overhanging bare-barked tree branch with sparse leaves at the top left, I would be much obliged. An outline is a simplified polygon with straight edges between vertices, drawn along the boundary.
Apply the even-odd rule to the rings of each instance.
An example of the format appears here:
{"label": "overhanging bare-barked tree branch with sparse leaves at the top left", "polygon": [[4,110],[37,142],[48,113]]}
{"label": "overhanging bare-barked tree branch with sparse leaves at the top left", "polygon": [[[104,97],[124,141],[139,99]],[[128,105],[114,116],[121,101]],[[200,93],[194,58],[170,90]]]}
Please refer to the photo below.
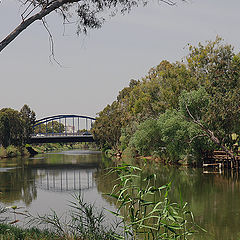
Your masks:
{"label": "overhanging bare-barked tree branch with sparse leaves at the top left", "polygon": [[[18,0],[23,11],[22,22],[0,42],[0,52],[8,46],[21,32],[35,21],[40,20],[49,33],[53,53],[53,40],[47,28],[45,17],[50,13],[62,16],[63,23],[77,23],[77,34],[86,33],[87,29],[100,28],[105,21],[103,15],[110,11],[114,16],[119,10],[121,13],[129,12],[133,6],[140,3],[145,5],[147,0]],[[174,5],[172,0],[160,0],[169,5]],[[183,0],[182,0],[183,1]],[[106,14],[105,14],[106,15]]]}

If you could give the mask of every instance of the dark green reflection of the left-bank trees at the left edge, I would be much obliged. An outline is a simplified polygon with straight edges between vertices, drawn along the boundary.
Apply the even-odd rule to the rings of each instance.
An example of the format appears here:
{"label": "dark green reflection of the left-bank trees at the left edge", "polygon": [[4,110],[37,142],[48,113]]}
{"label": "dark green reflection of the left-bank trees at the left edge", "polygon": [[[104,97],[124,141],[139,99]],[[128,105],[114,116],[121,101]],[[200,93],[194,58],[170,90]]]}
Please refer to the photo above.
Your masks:
{"label": "dark green reflection of the left-bank trees at the left edge", "polygon": [[26,166],[0,172],[0,201],[6,204],[22,200],[29,205],[37,197],[35,177],[32,169]]}

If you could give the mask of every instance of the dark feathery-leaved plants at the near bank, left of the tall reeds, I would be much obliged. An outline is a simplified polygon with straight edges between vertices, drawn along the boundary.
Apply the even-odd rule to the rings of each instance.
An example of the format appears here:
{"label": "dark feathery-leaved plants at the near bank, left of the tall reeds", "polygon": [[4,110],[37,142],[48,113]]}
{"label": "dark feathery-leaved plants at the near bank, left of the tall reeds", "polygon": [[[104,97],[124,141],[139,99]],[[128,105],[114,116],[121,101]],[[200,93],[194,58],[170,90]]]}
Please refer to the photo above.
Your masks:
{"label": "dark feathery-leaved plants at the near bank, left of the tall reeds", "polygon": [[93,204],[84,203],[81,196],[70,202],[68,220],[64,221],[54,211],[45,216],[30,216],[31,224],[52,229],[58,239],[114,240],[114,228],[104,225],[105,216]]}

